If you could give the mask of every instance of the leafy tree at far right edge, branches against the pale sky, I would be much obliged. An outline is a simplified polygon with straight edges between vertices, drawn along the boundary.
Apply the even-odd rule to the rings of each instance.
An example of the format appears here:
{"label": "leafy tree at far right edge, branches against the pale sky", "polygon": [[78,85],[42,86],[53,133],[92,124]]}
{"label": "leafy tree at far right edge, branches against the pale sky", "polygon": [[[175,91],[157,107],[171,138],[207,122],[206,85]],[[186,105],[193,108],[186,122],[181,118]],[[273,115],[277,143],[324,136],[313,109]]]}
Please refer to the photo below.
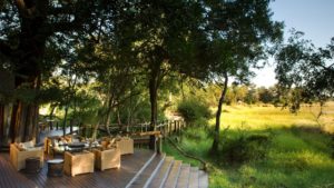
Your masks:
{"label": "leafy tree at far right edge, branches against the pale sky", "polygon": [[303,36],[292,30],[275,56],[279,95],[293,112],[298,111],[301,102],[323,105],[334,92],[334,38],[327,47],[315,48]]}

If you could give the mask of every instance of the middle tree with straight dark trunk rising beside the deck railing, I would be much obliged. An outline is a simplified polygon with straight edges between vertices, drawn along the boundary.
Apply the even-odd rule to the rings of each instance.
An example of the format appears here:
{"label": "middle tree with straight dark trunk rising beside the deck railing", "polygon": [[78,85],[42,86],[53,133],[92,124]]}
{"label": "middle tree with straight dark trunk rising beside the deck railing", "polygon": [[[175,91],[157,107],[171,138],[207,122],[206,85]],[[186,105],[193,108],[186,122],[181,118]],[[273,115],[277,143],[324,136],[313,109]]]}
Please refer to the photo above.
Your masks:
{"label": "middle tree with straight dark trunk rising beside the deck railing", "polygon": [[[129,3],[126,22],[129,46],[147,78],[150,101],[150,130],[157,125],[158,88],[173,71],[190,73],[199,47],[202,7],[197,1],[137,1]],[[194,70],[194,69],[191,69]],[[194,71],[193,71],[194,72]],[[154,137],[150,148],[154,148]]]}

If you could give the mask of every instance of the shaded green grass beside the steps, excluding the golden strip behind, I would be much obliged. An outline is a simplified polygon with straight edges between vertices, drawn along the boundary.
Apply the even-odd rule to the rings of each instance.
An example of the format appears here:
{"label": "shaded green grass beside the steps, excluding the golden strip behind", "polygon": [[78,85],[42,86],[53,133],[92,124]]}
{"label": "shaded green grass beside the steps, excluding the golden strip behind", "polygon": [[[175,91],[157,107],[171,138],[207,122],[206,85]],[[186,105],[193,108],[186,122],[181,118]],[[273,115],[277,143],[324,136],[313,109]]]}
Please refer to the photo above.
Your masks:
{"label": "shaded green grass beside the steps, excluding the golden strip behind", "polygon": [[[212,188],[334,187],[333,135],[304,123],[262,129],[256,125],[256,129],[240,127],[222,135],[223,147],[217,155],[209,155],[213,140],[208,129],[188,129],[174,139],[188,154],[209,161]],[[164,151],[189,160],[168,142],[164,144]],[[199,165],[193,160],[190,164]]]}

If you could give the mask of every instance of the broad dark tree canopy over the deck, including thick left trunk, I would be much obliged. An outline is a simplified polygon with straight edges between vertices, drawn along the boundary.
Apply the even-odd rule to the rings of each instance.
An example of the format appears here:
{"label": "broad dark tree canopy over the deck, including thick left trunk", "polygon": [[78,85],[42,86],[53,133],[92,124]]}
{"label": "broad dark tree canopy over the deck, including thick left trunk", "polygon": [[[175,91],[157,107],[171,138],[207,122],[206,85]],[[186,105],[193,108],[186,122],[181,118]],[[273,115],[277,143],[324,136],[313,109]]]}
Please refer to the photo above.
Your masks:
{"label": "broad dark tree canopy over the deck, including thick left trunk", "polygon": [[[0,113],[0,125],[10,129],[0,133],[10,135],[10,141],[30,139],[40,103],[49,100],[66,115],[68,109],[79,113],[87,107],[78,101],[95,97],[100,101],[92,102],[99,106],[96,115],[104,117],[96,123],[108,125],[112,112],[136,98],[149,101],[155,129],[165,81],[247,80],[249,68],[258,67],[269,44],[281,39],[282,23],[272,20],[269,2],[3,1],[0,71],[11,76],[12,91],[1,91],[1,108],[11,111],[11,120],[4,122]],[[90,97],[87,88],[94,90]]]}

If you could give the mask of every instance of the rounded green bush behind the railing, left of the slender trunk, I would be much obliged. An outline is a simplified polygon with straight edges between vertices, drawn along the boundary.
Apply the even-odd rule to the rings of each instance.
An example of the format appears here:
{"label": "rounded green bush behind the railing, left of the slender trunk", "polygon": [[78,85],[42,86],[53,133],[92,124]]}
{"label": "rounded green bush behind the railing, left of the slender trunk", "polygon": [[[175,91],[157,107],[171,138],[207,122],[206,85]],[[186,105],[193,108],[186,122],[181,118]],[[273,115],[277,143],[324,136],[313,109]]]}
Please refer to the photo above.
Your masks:
{"label": "rounded green bush behind the railing, left of the slender trunk", "polygon": [[185,118],[186,122],[195,126],[206,123],[212,117],[208,106],[196,99],[189,99],[178,103],[177,111]]}

